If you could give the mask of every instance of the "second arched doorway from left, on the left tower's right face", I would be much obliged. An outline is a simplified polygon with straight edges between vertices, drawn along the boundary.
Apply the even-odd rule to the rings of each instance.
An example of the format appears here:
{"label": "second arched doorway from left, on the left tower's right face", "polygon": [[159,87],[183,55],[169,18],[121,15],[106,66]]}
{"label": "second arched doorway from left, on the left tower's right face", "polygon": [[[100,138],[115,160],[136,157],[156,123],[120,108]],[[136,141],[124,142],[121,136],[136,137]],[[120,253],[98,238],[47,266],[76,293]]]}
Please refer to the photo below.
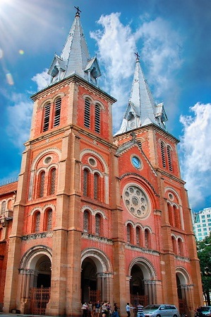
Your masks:
{"label": "second arched doorway from left, on the left tower's right face", "polygon": [[83,250],[81,258],[81,301],[111,301],[113,273],[107,256],[97,248]]}

